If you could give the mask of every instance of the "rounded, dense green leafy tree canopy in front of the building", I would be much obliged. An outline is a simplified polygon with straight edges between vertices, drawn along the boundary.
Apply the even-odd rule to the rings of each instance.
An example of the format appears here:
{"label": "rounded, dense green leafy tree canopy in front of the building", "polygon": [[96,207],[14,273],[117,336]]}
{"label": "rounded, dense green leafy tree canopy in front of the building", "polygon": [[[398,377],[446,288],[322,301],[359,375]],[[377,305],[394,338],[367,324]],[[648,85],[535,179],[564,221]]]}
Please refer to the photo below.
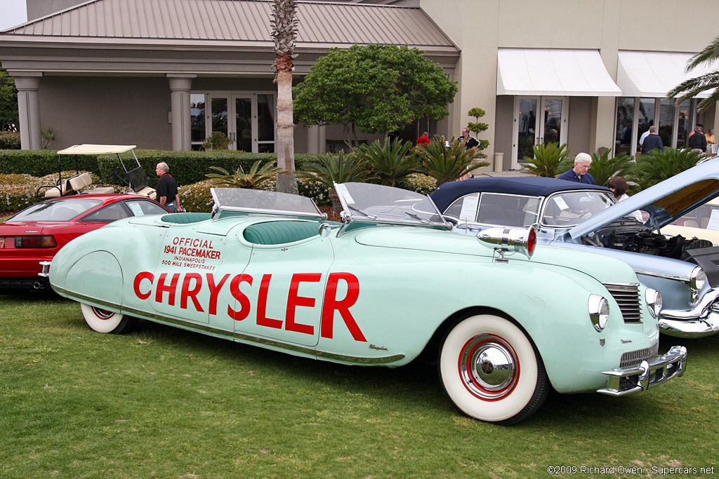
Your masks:
{"label": "rounded, dense green leafy tree canopy in front of the building", "polygon": [[354,126],[390,133],[418,118],[444,118],[457,82],[422,54],[396,45],[332,48],[294,88],[295,121],[343,125],[349,137]]}

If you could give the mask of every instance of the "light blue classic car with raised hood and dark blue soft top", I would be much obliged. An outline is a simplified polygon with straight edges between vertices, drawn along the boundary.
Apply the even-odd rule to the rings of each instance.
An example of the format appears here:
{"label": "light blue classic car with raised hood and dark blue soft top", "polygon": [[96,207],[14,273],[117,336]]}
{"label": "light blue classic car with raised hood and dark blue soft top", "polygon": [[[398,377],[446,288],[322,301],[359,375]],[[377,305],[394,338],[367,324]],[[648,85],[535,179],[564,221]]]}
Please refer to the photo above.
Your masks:
{"label": "light blue classic car with raised hood and dark blue soft top", "polygon": [[[719,248],[664,236],[661,228],[717,196],[719,159],[620,203],[605,187],[539,177],[474,178],[431,194],[459,233],[535,225],[539,243],[625,261],[642,284],[661,292],[661,332],[684,338],[719,332]],[[644,212],[644,223],[631,216],[636,210]]]}

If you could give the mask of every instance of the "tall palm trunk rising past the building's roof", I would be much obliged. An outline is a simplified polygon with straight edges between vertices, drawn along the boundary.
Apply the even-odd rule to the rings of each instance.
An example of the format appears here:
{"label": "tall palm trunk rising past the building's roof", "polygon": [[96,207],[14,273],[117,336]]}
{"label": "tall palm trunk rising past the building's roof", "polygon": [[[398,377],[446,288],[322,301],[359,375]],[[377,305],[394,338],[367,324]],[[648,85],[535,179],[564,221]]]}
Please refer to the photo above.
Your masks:
{"label": "tall palm trunk rising past the building's roof", "polygon": [[297,193],[295,177],[295,125],[292,118],[292,69],[297,37],[296,5],[294,0],[274,0],[272,37],[277,58],[273,65],[277,83],[277,164],[285,172],[277,178],[277,190]]}

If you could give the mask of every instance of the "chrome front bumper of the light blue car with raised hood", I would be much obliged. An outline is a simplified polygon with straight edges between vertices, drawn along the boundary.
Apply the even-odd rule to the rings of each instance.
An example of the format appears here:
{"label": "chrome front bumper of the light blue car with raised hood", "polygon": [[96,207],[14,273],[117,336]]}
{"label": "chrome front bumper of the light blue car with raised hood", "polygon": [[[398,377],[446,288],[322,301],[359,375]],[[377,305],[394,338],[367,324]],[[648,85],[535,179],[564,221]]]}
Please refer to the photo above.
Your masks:
{"label": "chrome front bumper of the light blue car with raised hood", "polygon": [[659,330],[677,338],[702,338],[719,332],[719,289],[705,294],[691,310],[662,310]]}

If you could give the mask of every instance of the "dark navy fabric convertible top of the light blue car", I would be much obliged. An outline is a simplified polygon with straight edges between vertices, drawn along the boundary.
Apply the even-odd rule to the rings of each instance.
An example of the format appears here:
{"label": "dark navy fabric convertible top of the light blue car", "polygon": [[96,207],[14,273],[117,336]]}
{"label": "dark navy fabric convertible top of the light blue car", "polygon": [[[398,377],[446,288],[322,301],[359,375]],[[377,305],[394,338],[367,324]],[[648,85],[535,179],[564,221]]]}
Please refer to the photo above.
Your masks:
{"label": "dark navy fabric convertible top of the light blue car", "polygon": [[510,195],[548,196],[567,190],[610,191],[608,187],[586,185],[557,178],[544,177],[502,177],[470,178],[469,180],[444,183],[429,195],[440,211],[446,210],[454,200],[477,192],[508,193]]}

